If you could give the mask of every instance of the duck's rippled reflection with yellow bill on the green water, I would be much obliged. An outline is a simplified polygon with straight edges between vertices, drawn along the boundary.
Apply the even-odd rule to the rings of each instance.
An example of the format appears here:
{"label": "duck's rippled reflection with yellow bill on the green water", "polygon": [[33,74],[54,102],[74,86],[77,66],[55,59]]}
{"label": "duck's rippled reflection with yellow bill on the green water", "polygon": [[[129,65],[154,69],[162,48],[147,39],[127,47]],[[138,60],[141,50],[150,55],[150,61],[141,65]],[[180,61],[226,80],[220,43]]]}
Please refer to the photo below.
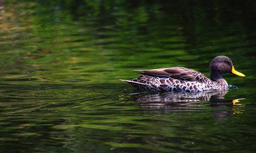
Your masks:
{"label": "duck's rippled reflection with yellow bill on the green water", "polygon": [[[220,108],[216,109],[214,116],[222,118],[225,116],[230,116],[231,114],[242,113],[241,107],[243,104],[239,104],[240,99],[224,99],[224,96],[228,91],[213,91],[213,92],[203,92],[203,93],[137,93],[132,94],[131,98],[133,101],[138,102],[141,108],[205,108],[209,104],[210,107]],[[209,101],[207,105],[202,103],[204,101]],[[226,111],[222,108],[228,108]],[[238,109],[237,109],[237,108]],[[194,109],[191,109],[193,111]],[[186,110],[188,111],[188,110]]]}

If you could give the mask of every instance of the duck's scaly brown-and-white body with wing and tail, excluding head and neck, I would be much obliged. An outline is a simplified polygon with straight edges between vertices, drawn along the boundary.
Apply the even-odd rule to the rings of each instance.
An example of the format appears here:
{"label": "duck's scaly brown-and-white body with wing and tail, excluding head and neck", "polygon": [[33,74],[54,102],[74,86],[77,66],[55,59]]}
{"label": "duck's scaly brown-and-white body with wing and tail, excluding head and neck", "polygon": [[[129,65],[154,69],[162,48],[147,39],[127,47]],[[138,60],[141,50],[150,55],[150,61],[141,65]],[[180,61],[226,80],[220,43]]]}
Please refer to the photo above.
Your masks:
{"label": "duck's scaly brown-and-white body with wing and tail, excluding head and neck", "polygon": [[135,71],[142,76],[124,81],[143,91],[203,92],[217,88],[216,83],[202,73],[183,67]]}

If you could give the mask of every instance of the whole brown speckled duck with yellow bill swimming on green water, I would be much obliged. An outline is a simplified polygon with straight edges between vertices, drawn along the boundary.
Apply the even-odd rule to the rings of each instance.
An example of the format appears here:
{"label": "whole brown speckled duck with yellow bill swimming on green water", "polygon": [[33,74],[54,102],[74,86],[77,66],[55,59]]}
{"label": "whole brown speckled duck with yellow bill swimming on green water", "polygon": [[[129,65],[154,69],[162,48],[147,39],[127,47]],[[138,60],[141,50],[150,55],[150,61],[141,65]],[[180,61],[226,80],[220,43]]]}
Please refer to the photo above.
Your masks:
{"label": "whole brown speckled duck with yellow bill swimming on green water", "polygon": [[228,83],[223,74],[232,73],[240,77],[244,74],[234,69],[231,59],[217,56],[210,62],[210,78],[204,74],[184,67],[160,68],[152,70],[134,70],[142,74],[138,78],[122,80],[140,91],[151,92],[204,92],[228,90]]}

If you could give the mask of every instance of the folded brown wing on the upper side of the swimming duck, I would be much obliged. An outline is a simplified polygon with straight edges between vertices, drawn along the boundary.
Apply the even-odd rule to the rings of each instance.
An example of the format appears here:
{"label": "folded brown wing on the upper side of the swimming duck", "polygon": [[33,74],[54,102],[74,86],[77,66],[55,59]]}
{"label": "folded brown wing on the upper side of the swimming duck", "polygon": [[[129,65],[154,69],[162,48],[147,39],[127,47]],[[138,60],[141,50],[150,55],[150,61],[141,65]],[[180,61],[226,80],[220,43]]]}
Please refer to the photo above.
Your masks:
{"label": "folded brown wing on the upper side of the swimming duck", "polygon": [[151,75],[156,77],[169,77],[172,79],[183,80],[183,81],[197,81],[205,83],[209,79],[202,73],[187,69],[183,67],[173,67],[173,68],[161,68],[153,70],[134,70],[141,74]]}

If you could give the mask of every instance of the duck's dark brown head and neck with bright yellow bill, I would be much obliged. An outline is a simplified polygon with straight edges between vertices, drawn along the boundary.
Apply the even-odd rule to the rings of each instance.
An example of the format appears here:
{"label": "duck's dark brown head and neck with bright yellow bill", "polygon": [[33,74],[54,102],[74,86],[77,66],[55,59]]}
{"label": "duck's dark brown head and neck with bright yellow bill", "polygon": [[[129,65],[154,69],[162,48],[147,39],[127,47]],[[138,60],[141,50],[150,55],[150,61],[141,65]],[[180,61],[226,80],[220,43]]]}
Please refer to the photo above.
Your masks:
{"label": "duck's dark brown head and neck with bright yellow bill", "polygon": [[244,74],[234,70],[233,63],[227,56],[217,56],[212,59],[210,63],[210,79],[216,81],[222,79],[222,75],[225,73],[233,73],[241,77],[245,77]]}

